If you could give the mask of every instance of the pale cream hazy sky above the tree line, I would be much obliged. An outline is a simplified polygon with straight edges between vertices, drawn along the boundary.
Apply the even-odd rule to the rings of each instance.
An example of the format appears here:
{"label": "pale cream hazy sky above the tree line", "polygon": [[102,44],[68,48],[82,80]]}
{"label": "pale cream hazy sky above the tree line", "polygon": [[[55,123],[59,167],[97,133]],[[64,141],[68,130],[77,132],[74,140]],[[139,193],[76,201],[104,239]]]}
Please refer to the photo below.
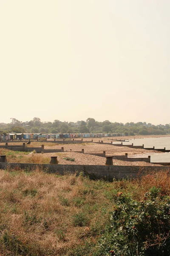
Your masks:
{"label": "pale cream hazy sky above the tree line", "polygon": [[0,122],[169,123],[170,0],[0,0]]}

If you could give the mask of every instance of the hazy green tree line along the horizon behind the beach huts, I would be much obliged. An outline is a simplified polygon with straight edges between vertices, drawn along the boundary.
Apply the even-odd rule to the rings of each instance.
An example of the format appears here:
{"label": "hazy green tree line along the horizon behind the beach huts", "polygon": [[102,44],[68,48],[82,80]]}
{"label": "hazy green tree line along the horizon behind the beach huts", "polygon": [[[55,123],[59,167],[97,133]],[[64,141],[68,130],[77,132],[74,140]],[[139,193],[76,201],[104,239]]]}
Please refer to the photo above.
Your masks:
{"label": "hazy green tree line along the horizon behind the beach huts", "polygon": [[6,135],[8,132],[16,133],[115,133],[126,136],[140,135],[164,135],[170,134],[170,124],[152,125],[146,122],[103,122],[88,118],[86,121],[62,122],[55,119],[54,122],[41,122],[39,117],[34,117],[30,121],[21,122],[11,118],[11,123],[0,123],[0,134]]}

